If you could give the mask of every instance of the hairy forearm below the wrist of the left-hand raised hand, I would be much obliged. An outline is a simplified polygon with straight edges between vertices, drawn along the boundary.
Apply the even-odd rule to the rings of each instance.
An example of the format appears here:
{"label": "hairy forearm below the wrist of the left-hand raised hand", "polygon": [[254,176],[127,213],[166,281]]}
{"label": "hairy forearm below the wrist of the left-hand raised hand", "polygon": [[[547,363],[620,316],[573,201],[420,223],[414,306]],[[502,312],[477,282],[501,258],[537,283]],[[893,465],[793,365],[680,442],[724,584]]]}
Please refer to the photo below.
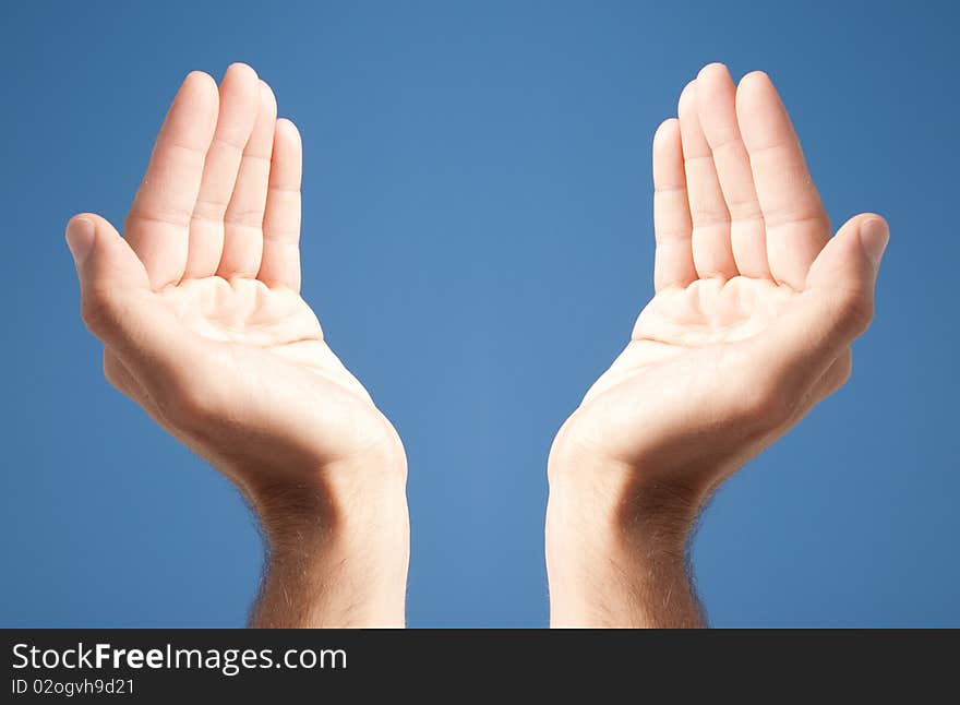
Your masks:
{"label": "hairy forearm below the wrist of the left-hand raised hand", "polygon": [[251,626],[403,626],[409,522],[401,479],[285,487],[251,503],[266,565]]}

